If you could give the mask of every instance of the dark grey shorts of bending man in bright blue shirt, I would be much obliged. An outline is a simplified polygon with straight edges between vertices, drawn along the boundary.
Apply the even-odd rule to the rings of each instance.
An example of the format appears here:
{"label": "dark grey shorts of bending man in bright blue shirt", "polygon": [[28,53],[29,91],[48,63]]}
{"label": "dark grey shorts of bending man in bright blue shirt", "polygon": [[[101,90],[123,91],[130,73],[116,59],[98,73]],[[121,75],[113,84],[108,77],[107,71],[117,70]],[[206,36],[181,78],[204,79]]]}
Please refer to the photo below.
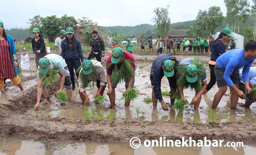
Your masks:
{"label": "dark grey shorts of bending man in bright blue shirt", "polygon": [[[217,81],[217,86],[218,87],[228,85],[227,82],[223,78],[224,72],[225,72],[224,68],[215,65],[214,73],[215,73],[215,76],[216,76],[216,81]],[[240,83],[239,70],[233,71],[230,78],[231,78],[231,80],[234,84],[239,84]]]}

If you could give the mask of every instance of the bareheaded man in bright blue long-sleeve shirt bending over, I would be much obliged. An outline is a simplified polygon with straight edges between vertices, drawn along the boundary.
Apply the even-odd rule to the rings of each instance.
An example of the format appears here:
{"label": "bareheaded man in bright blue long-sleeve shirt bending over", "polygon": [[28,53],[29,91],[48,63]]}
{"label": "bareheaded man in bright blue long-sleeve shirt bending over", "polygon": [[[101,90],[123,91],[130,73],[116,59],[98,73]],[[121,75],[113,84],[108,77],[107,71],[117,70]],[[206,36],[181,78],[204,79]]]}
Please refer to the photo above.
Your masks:
{"label": "bareheaded man in bright blue long-sleeve shirt bending over", "polygon": [[230,108],[235,109],[238,97],[245,99],[243,91],[239,90],[239,69],[243,67],[242,75],[245,90],[250,91],[249,71],[256,58],[256,41],[249,41],[244,49],[234,49],[222,54],[217,60],[214,73],[219,91],[214,96],[212,109],[216,109],[222,96],[227,91],[227,85],[231,87]]}

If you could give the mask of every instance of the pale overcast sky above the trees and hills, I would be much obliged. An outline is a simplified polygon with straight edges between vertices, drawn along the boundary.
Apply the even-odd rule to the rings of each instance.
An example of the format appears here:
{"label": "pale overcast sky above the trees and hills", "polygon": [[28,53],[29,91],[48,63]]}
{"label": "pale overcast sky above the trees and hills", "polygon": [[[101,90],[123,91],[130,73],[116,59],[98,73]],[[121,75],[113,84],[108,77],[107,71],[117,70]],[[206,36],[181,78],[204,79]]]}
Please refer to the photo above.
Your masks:
{"label": "pale overcast sky above the trees and hills", "polygon": [[[251,0],[249,0],[251,1]],[[153,24],[154,8],[169,7],[171,23],[194,20],[198,11],[220,6],[226,15],[224,0],[2,0],[0,20],[5,28],[29,27],[28,19],[64,14],[76,19],[88,17],[99,26],[135,26]]]}

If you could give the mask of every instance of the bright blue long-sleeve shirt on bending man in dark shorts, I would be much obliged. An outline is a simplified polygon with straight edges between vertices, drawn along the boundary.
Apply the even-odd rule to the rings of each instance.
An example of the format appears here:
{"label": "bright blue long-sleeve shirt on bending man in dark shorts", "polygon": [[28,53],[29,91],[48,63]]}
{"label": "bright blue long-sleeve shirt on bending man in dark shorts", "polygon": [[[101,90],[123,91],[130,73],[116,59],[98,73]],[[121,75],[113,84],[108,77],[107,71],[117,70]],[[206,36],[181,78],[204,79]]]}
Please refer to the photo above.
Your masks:
{"label": "bright blue long-sleeve shirt on bending man in dark shorts", "polygon": [[217,60],[216,65],[225,68],[224,80],[227,82],[228,86],[233,86],[230,76],[235,70],[239,70],[242,67],[243,71],[243,81],[249,81],[249,71],[250,67],[255,59],[245,59],[244,49],[234,49],[222,54]]}

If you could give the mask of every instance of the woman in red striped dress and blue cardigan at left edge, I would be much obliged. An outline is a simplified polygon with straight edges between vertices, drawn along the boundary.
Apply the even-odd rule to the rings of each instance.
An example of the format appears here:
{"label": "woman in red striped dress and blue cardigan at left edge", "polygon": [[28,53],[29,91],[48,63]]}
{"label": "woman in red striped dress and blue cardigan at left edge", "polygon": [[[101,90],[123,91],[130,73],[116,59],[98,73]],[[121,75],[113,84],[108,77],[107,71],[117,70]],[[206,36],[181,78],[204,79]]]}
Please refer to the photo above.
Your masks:
{"label": "woman in red striped dress and blue cardigan at left edge", "polygon": [[5,91],[5,78],[9,78],[20,90],[24,90],[16,70],[17,66],[16,49],[13,38],[6,34],[4,23],[0,21],[0,90],[2,93]]}

